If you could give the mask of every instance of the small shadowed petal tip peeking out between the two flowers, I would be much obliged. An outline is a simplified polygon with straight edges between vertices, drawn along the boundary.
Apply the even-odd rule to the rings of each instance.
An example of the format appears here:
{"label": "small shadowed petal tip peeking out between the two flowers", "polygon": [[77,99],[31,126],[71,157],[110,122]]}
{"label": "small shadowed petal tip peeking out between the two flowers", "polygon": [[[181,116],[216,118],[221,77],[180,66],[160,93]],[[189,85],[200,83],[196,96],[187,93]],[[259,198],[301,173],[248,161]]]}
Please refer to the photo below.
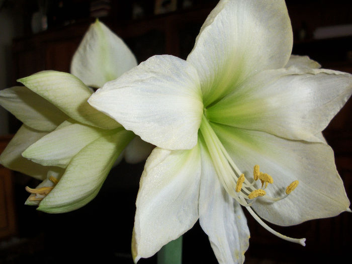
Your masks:
{"label": "small shadowed petal tip peeking out between the two flowers", "polygon": [[135,136],[125,149],[125,160],[131,164],[145,161],[154,147],[139,136]]}

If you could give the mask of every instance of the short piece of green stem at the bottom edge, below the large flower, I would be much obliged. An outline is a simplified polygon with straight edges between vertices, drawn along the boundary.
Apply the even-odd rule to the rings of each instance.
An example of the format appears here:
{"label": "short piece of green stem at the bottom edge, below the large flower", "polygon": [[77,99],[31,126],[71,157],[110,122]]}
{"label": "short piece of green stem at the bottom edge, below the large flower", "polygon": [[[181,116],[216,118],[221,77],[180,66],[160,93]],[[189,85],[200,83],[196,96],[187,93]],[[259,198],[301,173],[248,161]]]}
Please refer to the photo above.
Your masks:
{"label": "short piece of green stem at the bottom edge, below the large flower", "polygon": [[161,247],[157,253],[157,264],[182,264],[182,236]]}

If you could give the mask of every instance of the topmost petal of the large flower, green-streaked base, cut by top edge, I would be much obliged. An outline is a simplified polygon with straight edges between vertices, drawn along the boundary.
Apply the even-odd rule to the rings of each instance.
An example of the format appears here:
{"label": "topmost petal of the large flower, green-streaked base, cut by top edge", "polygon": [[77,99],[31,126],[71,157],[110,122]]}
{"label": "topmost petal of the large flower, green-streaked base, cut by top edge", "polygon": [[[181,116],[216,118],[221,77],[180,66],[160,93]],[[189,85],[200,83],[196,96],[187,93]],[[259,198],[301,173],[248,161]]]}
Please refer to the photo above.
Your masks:
{"label": "topmost petal of the large flower, green-streaked base, cut by top edge", "polygon": [[285,66],[292,43],[285,1],[220,1],[187,58],[200,75],[204,105],[248,76]]}

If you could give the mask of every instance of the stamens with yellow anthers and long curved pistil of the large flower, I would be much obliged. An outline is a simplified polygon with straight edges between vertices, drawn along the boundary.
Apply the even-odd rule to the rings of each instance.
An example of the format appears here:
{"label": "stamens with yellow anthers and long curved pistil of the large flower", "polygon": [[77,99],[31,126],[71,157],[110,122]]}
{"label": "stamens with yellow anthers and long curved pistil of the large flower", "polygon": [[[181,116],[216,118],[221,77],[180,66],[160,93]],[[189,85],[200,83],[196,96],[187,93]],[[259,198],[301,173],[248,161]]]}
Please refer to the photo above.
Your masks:
{"label": "stamens with yellow anthers and long curved pistil of the large flower", "polygon": [[[298,186],[298,181],[291,183],[286,188],[286,192],[283,196],[276,198],[270,197],[264,189],[266,189],[269,184],[274,183],[271,175],[261,172],[259,170],[259,165],[254,165],[253,180],[249,181],[227,153],[225,147],[222,145],[204,115],[202,117],[200,132],[213,161],[218,179],[226,192],[240,205],[244,206],[253,218],[269,232],[282,239],[305,245],[305,238],[291,238],[273,230],[266,223],[264,223],[250,207],[258,197],[262,197],[273,202],[286,198]],[[259,189],[255,188],[255,183],[258,180],[261,182],[261,188]]]}

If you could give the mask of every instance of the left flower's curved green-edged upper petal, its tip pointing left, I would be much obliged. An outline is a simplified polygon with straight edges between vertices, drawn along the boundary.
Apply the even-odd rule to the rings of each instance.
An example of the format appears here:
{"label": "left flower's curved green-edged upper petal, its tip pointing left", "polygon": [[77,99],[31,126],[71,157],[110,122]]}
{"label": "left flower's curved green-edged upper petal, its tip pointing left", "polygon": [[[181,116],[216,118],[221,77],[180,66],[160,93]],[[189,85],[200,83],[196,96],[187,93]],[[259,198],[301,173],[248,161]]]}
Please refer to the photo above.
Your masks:
{"label": "left flower's curved green-edged upper petal, its tip pointing left", "polygon": [[72,74],[48,70],[18,81],[78,122],[104,129],[119,126],[86,102],[92,91]]}

